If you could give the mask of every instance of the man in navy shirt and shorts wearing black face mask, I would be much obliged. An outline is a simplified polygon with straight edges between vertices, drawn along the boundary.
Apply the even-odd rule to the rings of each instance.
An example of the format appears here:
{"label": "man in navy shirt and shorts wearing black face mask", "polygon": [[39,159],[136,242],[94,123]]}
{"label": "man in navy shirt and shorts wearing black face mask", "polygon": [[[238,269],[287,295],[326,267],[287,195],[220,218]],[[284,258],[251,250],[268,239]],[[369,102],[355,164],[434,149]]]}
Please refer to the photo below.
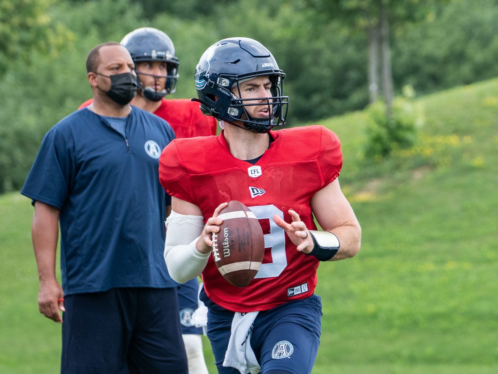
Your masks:
{"label": "man in navy shirt and shorts wearing black face mask", "polygon": [[98,45],[86,65],[93,104],[50,129],[21,190],[34,201],[39,309],[64,321],[61,373],[187,373],[162,257],[170,202],[158,160],[174,132],[129,105],[136,76],[123,46]]}

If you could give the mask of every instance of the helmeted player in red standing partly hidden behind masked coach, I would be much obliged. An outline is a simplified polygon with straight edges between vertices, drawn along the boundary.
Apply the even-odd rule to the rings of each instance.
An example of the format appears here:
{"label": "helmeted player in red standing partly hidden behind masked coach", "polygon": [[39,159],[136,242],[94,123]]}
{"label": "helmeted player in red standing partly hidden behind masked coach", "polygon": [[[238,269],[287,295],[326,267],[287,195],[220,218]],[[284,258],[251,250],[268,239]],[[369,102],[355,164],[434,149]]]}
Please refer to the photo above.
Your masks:
{"label": "helmeted player in red standing partly hidden behind masked coach", "polygon": [[[216,118],[204,116],[198,103],[188,99],[164,98],[175,92],[179,65],[175,47],[168,35],[156,28],[141,27],[125,35],[121,44],[130,53],[137,75],[138,90],[130,104],[166,120],[176,138],[216,135]],[[87,100],[80,109],[92,103],[93,99]],[[166,214],[169,214],[169,206]],[[197,279],[178,287],[189,374],[208,373],[199,335],[202,328],[196,328],[192,323],[192,315],[198,305],[198,288]]]}

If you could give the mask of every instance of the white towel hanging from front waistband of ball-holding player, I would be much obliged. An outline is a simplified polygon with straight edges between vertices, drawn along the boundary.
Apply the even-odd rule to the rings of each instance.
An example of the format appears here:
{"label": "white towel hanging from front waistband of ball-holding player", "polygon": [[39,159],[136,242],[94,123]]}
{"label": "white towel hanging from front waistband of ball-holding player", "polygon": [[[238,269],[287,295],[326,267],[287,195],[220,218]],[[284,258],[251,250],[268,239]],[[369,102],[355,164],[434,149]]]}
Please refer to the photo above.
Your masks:
{"label": "white towel hanging from front waistband of ball-holding player", "polygon": [[235,368],[242,374],[261,372],[250,346],[252,324],[258,313],[235,313],[232,321],[232,334],[228,342],[223,366]]}

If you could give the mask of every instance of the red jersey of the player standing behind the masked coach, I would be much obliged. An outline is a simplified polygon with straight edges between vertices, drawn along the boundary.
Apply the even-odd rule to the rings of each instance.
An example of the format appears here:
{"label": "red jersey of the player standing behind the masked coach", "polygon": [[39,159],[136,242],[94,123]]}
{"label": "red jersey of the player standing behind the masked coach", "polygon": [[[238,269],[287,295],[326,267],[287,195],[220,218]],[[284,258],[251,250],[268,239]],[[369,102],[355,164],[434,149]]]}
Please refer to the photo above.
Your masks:
{"label": "red jersey of the player standing behind the masked coach", "polygon": [[[89,106],[93,99],[85,101],[78,109]],[[202,114],[201,104],[188,99],[162,98],[161,106],[154,112],[173,128],[177,138],[216,135],[218,121]]]}

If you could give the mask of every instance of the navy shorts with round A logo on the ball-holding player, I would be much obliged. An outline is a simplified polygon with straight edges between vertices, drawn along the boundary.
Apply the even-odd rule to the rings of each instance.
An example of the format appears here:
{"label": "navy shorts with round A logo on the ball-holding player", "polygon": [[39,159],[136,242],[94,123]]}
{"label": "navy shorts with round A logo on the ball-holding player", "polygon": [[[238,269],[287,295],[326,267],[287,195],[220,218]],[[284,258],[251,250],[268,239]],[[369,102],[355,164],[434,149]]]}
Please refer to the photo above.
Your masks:
{"label": "navy shorts with round A logo on the ball-holding player", "polygon": [[[204,290],[201,300],[208,307],[208,338],[218,373],[240,374],[237,369],[223,366],[234,313],[211,301]],[[261,373],[311,373],[320,345],[321,317],[322,301],[317,295],[259,312],[250,345]]]}

